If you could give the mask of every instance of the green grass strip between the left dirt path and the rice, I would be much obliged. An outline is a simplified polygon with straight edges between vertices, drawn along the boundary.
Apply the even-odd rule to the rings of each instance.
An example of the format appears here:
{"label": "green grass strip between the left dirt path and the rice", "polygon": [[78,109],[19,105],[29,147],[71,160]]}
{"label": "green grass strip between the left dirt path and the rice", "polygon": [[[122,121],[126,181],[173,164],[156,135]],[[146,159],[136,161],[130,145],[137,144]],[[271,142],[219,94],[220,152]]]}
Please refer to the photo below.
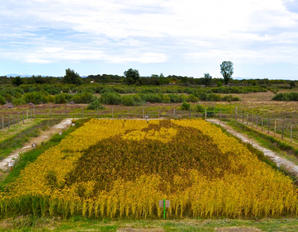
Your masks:
{"label": "green grass strip between the left dirt path and the rice", "polygon": [[13,171],[11,171],[0,183],[0,191],[4,191],[4,186],[9,182],[14,181],[15,178],[17,178],[20,174],[21,170],[23,170],[28,163],[33,163],[40,154],[44,153],[44,151],[53,146],[57,146],[60,141],[64,139],[68,134],[74,132],[77,128],[83,126],[83,124],[89,120],[90,119],[76,120],[76,126],[71,126],[69,129],[65,130],[62,135],[56,133],[49,139],[49,141],[45,142],[43,145],[39,145],[34,150],[30,150],[21,154],[19,160],[17,160],[16,162],[16,166],[13,168]]}

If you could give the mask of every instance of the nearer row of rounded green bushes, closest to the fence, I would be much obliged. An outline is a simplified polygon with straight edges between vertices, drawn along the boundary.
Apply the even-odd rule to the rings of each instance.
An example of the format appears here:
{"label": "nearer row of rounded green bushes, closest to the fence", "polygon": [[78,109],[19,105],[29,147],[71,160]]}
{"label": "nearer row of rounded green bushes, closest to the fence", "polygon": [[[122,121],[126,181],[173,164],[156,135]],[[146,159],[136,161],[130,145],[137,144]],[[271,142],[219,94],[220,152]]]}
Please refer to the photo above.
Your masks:
{"label": "nearer row of rounded green bushes, closest to the fence", "polygon": [[[139,106],[145,104],[146,102],[150,103],[182,103],[182,102],[198,102],[200,100],[206,101],[240,101],[240,98],[233,97],[232,95],[221,96],[215,93],[202,93],[196,92],[194,94],[162,94],[162,93],[138,93],[131,95],[120,95],[117,92],[104,92],[101,94],[99,100],[90,92],[76,93],[76,94],[67,94],[60,93],[57,95],[49,95],[44,92],[29,92],[24,93],[23,96],[19,98],[13,98],[13,105],[22,105],[27,103],[41,104],[41,103],[55,103],[55,104],[64,104],[64,103],[93,103],[90,107],[102,107],[98,105],[99,103],[106,105],[125,105],[125,106]],[[0,97],[0,104],[5,104],[5,99]],[[97,104],[96,106],[94,104]]]}

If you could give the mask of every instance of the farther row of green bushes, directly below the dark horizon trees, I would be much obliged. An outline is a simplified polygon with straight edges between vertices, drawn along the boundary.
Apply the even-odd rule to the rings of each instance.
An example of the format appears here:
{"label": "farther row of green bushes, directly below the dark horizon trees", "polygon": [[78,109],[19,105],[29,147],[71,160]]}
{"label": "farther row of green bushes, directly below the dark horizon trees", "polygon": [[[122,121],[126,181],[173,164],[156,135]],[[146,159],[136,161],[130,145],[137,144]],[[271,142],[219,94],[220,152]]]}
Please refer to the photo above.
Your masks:
{"label": "farther row of green bushes, directly below the dark horizon trees", "polygon": [[[0,86],[0,95],[5,98],[6,101],[12,102],[13,99],[16,102],[20,102],[20,98],[26,93],[32,92],[41,92],[42,95],[59,95],[61,93],[106,93],[106,92],[117,92],[120,94],[129,94],[129,93],[139,93],[139,94],[157,94],[157,93],[187,93],[193,94],[196,97],[205,100],[209,93],[222,93],[222,94],[231,94],[231,93],[249,93],[249,92],[266,92],[267,89],[260,86],[232,86],[232,87],[201,87],[201,86],[180,86],[180,85],[168,85],[168,86],[128,86],[128,85],[105,85],[99,83],[92,84],[83,84],[76,86],[73,84],[22,84],[18,87],[14,87],[10,84]],[[3,98],[0,99],[0,103],[3,101]],[[46,99],[41,100],[41,102],[46,101]],[[49,100],[50,101],[50,100]],[[32,102],[33,103],[33,102]]]}

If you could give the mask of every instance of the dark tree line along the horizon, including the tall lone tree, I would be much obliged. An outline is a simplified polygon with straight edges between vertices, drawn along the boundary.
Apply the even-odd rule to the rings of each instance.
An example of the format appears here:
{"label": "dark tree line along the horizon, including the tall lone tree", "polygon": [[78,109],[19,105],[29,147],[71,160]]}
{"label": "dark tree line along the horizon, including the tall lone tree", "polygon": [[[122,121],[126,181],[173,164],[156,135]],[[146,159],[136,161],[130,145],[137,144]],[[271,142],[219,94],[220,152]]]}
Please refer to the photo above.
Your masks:
{"label": "dark tree line along the horizon, including the tall lone tree", "polygon": [[141,77],[139,75],[139,70],[128,69],[123,72],[123,76],[112,75],[112,74],[97,74],[88,75],[86,78],[80,77],[80,75],[74,70],[68,68],[65,70],[65,75],[63,77],[52,77],[41,75],[33,75],[31,77],[21,78],[0,76],[0,84],[12,84],[14,86],[20,86],[21,84],[59,84],[67,83],[80,86],[86,83],[122,83],[127,85],[168,85],[168,84],[180,84],[184,86],[190,85],[204,85],[204,86],[223,86],[227,85],[271,85],[271,84],[289,84],[291,87],[295,86],[295,81],[291,80],[269,80],[268,78],[257,78],[257,79],[242,79],[233,80],[232,75],[234,73],[233,63],[231,61],[223,61],[220,65],[220,72],[223,78],[212,78],[212,76],[206,72],[201,78],[187,77],[187,76],[177,76],[168,75],[165,77],[163,73],[160,75],[152,74],[151,76]]}

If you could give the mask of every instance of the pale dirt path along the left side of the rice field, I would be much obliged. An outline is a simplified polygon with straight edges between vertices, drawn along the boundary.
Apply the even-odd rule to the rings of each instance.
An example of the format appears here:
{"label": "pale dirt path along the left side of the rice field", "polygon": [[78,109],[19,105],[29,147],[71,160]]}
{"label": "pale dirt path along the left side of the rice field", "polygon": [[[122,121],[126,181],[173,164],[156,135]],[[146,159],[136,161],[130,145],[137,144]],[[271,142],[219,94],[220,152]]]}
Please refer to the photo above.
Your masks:
{"label": "pale dirt path along the left side of the rice field", "polygon": [[41,135],[39,135],[38,137],[31,138],[30,142],[24,144],[24,147],[16,149],[9,156],[7,156],[5,159],[1,160],[0,161],[0,169],[2,171],[8,170],[7,162],[10,162],[10,160],[18,158],[19,153],[32,149],[31,148],[32,143],[37,143],[37,145],[39,145],[39,144],[41,144],[41,142],[46,142],[55,133],[58,133],[59,131],[62,131],[64,129],[68,128],[71,125],[71,123],[72,123],[72,119],[66,118],[66,119],[62,120],[62,122],[60,122],[59,124],[49,128],[45,131],[42,131]]}

